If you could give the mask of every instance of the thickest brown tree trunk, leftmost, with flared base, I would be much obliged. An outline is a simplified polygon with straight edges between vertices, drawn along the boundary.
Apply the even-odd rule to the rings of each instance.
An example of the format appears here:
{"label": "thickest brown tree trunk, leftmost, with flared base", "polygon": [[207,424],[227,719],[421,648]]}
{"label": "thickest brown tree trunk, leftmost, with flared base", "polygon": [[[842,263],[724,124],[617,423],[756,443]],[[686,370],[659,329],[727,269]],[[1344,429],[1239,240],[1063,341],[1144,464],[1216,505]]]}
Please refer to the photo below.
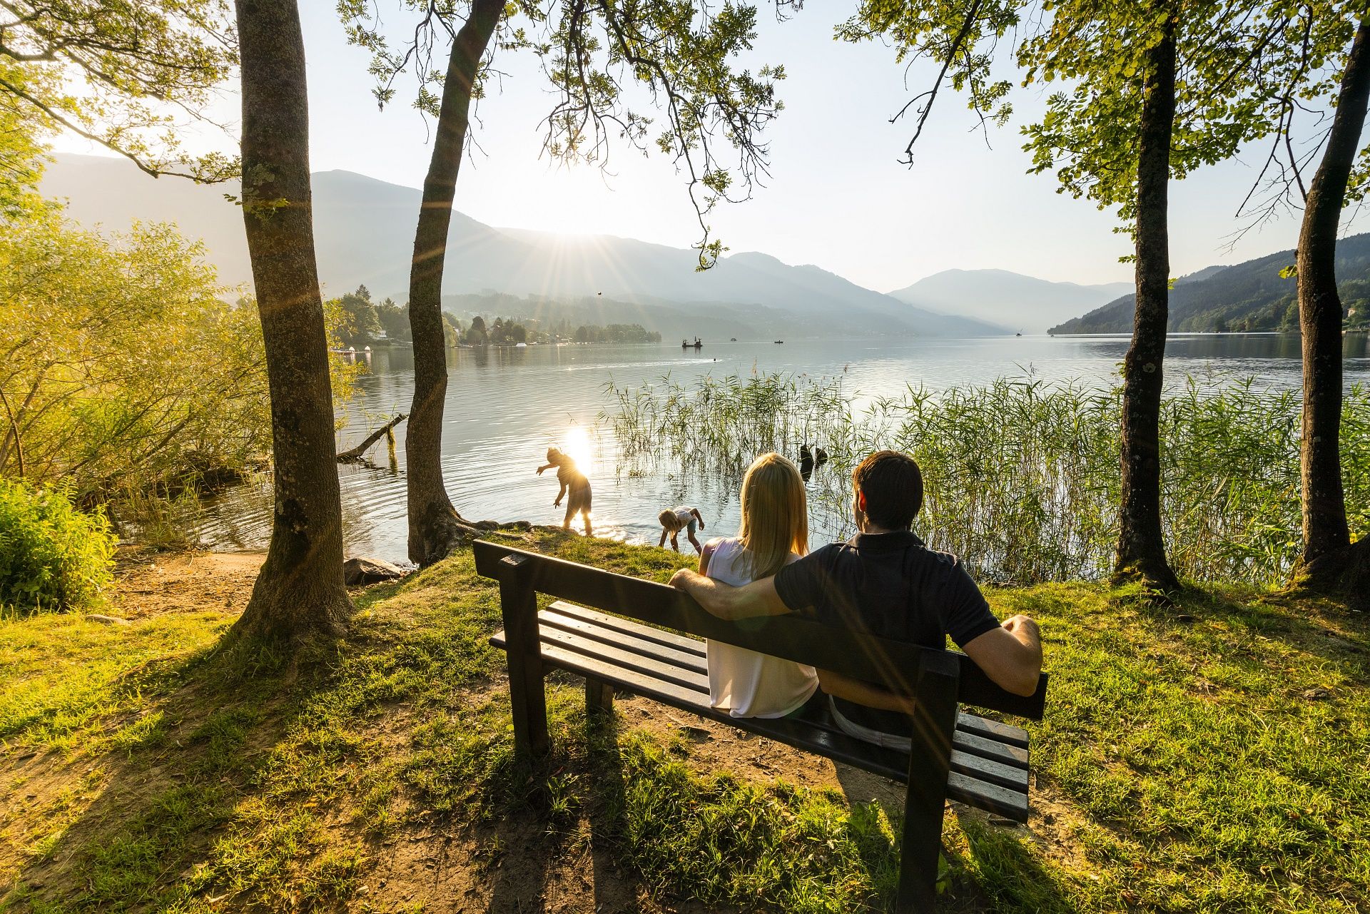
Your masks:
{"label": "thickest brown tree trunk, leftmost, with flared base", "polygon": [[234,633],[299,641],[342,630],[342,503],[323,303],[314,259],[304,40],[295,0],[237,0],[242,218],[266,341],[275,512]]}

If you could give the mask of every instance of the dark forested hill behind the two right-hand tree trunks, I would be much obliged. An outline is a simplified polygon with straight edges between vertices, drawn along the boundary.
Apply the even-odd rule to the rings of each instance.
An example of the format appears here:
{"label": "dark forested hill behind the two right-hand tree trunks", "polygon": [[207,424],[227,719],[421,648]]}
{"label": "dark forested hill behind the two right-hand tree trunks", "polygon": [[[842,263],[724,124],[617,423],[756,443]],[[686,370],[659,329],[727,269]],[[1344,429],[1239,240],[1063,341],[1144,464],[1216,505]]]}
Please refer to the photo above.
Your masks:
{"label": "dark forested hill behind the two right-hand tree trunks", "polygon": [[[1297,330],[1296,281],[1280,277],[1295,252],[1281,251],[1230,267],[1206,267],[1170,291],[1170,325],[1175,333]],[[1347,326],[1370,318],[1370,234],[1337,243],[1337,280]],[[1136,308],[1125,295],[1089,314],[1051,328],[1049,333],[1130,333]]]}

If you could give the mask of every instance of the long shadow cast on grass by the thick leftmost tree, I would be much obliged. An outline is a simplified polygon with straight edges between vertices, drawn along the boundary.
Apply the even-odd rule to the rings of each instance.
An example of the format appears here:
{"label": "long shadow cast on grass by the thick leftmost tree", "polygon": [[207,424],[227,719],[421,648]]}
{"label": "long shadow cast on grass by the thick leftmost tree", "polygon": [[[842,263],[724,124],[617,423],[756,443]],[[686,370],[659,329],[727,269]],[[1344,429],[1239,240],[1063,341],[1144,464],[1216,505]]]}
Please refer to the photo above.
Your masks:
{"label": "long shadow cast on grass by the thick leftmost tree", "polygon": [[208,855],[273,745],[327,680],[319,667],[286,669],[260,651],[210,648],[159,663],[155,697],[136,719],[115,722],[97,755],[74,762],[49,750],[37,759],[55,778],[92,778],[99,795],[42,840],[0,907],[123,911],[211,888],[192,861]]}

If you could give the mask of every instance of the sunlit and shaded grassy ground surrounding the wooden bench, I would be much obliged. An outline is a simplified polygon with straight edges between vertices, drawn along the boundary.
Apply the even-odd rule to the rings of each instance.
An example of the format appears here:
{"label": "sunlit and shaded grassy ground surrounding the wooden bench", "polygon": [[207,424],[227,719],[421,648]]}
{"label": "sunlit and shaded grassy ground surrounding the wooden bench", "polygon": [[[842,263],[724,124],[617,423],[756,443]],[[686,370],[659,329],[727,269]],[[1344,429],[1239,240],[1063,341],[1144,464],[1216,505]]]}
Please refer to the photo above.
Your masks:
{"label": "sunlit and shaded grassy ground surrounding the wooden bench", "polygon": [[[658,580],[681,562],[540,537]],[[1252,593],[1196,595],[1182,621],[1085,585],[989,596],[1048,636],[1037,813],[1033,833],[948,817],[948,909],[1370,907],[1365,615]],[[469,554],[358,604],[307,671],[215,655],[225,614],[0,623],[0,907],[415,910],[379,874],[440,835],[486,895],[514,856],[548,878],[593,848],[596,884],[600,859],[633,874],[625,910],[889,902],[880,807],[697,770],[684,741],[588,733],[569,677],[553,759],[521,769],[485,645],[496,592]]]}

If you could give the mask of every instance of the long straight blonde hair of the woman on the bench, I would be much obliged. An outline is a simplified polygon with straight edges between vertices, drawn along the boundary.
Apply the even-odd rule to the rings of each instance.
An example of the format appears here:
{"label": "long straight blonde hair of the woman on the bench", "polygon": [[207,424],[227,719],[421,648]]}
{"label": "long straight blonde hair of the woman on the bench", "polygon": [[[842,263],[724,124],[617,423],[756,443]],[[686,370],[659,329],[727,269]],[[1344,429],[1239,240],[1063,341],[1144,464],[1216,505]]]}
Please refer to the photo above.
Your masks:
{"label": "long straight blonde hair of the woman on the bench", "polygon": [[790,552],[808,552],[808,502],[799,469],[778,454],[763,454],[743,477],[743,526],[737,532],[754,580],[785,567]]}

